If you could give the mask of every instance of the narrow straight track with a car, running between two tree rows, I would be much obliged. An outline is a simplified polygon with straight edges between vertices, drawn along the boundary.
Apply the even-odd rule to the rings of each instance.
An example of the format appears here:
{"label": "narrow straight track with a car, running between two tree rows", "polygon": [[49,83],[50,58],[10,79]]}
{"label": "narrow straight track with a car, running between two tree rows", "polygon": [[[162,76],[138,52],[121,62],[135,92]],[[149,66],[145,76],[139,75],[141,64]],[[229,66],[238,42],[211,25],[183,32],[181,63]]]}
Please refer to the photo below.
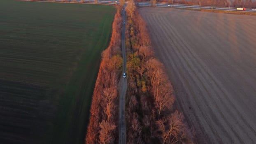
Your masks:
{"label": "narrow straight track with a car, running between two tree rows", "polygon": [[[125,50],[125,31],[126,31],[126,12],[123,7],[123,27],[122,27],[122,55],[123,55],[123,73],[126,73],[126,50]],[[126,121],[125,121],[125,99],[127,90],[127,79],[120,79],[120,91],[119,91],[119,144],[126,144]]]}

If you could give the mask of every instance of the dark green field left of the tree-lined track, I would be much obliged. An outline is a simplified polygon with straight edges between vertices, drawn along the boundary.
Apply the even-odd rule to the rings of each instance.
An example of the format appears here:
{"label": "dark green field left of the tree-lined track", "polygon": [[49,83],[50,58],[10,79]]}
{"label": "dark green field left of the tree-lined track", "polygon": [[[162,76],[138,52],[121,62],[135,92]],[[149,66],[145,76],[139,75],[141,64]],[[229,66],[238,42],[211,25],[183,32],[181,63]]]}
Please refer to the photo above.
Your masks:
{"label": "dark green field left of the tree-lined track", "polygon": [[0,143],[81,144],[109,5],[0,0]]}

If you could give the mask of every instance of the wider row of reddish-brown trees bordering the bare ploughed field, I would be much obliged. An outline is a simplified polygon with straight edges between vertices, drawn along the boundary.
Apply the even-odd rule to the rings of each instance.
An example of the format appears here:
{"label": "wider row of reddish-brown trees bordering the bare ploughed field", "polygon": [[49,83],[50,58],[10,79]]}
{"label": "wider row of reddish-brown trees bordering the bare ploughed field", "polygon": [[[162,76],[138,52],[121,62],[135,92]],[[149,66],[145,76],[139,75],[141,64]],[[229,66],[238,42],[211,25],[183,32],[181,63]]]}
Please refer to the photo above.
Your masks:
{"label": "wider row of reddish-brown trees bordering the bare ploughed field", "polygon": [[146,23],[133,0],[126,12],[127,144],[193,143],[184,116],[172,107],[172,85],[163,64],[154,57]]}

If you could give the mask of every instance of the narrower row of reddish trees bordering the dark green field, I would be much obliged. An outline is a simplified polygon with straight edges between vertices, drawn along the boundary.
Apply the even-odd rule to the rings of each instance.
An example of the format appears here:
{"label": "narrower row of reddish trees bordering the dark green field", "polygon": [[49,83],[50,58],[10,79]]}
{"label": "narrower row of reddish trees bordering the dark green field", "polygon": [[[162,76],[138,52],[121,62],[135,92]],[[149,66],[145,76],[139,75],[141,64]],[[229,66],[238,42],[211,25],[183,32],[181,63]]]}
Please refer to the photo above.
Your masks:
{"label": "narrower row of reddish trees bordering the dark green field", "polygon": [[118,82],[121,77],[121,7],[117,8],[109,47],[102,61],[91,104],[86,144],[113,144],[118,140]]}

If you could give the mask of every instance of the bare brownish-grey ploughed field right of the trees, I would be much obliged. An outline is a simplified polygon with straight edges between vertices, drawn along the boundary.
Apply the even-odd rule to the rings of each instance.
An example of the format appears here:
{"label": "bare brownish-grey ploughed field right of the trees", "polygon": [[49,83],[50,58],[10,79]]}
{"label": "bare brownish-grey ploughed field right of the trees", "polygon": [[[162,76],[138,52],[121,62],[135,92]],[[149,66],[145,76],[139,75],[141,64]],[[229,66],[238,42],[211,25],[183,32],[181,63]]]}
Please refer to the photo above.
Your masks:
{"label": "bare brownish-grey ploughed field right of the trees", "polygon": [[256,16],[140,8],[198,143],[256,143]]}

